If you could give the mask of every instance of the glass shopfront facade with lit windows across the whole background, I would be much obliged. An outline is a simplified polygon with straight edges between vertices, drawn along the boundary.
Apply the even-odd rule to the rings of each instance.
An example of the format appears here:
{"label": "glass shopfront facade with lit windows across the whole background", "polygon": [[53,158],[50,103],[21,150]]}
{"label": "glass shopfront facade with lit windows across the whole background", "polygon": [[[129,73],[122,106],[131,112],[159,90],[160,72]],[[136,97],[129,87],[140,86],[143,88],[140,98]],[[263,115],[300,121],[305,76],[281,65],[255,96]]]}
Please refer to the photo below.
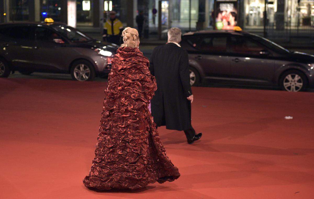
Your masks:
{"label": "glass shopfront facade with lit windows across the whole background", "polygon": [[[234,20],[236,25],[244,30],[258,33],[263,32],[266,27],[271,33],[313,29],[314,1],[266,1],[265,3],[265,0],[76,0],[76,24],[78,27],[101,28],[108,12],[114,10],[125,26],[136,27],[136,15],[143,11],[146,35],[158,33],[159,20],[162,31],[170,27],[179,27],[183,32],[206,30],[213,29],[216,21],[224,22],[224,19],[229,20],[231,17],[230,14],[225,18],[220,16],[219,21],[217,10],[222,7],[218,8],[217,5],[225,6],[228,2],[235,2],[234,9],[237,12]],[[5,22],[43,21],[46,17],[51,17],[55,21],[67,22],[66,2],[67,0],[0,0],[0,4],[6,10],[6,16],[2,15],[0,19]]]}

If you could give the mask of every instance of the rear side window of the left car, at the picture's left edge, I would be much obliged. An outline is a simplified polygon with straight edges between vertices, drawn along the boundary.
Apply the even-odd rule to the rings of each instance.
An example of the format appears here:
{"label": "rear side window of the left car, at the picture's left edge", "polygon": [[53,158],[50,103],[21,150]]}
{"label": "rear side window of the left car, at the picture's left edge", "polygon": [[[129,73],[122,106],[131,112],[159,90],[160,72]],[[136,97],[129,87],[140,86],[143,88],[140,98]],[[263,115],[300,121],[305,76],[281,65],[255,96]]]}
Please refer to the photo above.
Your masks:
{"label": "rear side window of the left car, at the picture's left edge", "polygon": [[30,26],[6,26],[0,29],[0,34],[14,39],[30,39]]}

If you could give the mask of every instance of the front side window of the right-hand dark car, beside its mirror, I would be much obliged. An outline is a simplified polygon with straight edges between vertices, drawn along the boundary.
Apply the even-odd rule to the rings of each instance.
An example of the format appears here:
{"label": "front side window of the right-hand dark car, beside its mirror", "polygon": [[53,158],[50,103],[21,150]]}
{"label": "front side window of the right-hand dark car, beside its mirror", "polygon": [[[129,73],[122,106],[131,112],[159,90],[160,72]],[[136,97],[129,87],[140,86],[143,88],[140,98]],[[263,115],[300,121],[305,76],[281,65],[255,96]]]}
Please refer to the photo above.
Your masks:
{"label": "front side window of the right-hand dark car, beside its mirror", "polygon": [[265,49],[265,46],[255,40],[252,40],[251,38],[237,35],[233,35],[230,38],[229,51],[231,53],[243,55],[260,55],[260,51]]}

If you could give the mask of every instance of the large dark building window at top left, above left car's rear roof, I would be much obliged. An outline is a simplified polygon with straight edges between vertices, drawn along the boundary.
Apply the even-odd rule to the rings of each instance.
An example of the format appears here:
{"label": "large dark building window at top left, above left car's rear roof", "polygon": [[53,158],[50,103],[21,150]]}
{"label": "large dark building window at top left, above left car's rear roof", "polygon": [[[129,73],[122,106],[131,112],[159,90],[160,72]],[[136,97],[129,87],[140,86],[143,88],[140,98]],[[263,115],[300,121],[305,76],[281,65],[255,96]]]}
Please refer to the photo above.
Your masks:
{"label": "large dark building window at top left, above left car's rear roof", "polygon": [[27,21],[29,20],[29,1],[28,0],[11,0],[10,20],[11,21]]}

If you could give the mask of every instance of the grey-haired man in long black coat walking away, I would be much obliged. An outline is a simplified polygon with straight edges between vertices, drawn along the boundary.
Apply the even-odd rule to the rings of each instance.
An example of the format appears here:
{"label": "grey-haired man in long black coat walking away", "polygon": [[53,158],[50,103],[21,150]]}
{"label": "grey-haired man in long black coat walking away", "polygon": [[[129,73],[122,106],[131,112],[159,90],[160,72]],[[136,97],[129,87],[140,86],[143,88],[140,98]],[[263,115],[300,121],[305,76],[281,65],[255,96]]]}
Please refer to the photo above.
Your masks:
{"label": "grey-haired man in long black coat walking away", "polygon": [[155,76],[157,90],[151,100],[154,122],[167,129],[184,131],[187,142],[192,144],[201,138],[191,125],[191,103],[193,102],[187,51],[179,45],[181,30],[168,31],[168,43],[154,48],[149,70]]}

